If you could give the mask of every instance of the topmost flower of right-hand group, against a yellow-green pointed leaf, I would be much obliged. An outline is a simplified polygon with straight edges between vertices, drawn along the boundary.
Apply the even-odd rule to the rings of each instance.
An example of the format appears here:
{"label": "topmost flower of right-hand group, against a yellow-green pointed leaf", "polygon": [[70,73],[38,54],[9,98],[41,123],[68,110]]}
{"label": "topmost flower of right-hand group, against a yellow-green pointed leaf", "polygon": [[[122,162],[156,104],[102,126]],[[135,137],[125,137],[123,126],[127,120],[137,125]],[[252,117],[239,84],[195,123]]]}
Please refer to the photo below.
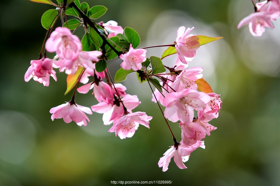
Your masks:
{"label": "topmost flower of right-hand group, against a yellow-green pointed leaf", "polygon": [[196,50],[200,47],[198,42],[199,38],[197,35],[189,34],[188,33],[194,29],[188,28],[185,31],[185,27],[181,26],[177,31],[177,38],[176,38],[176,51],[178,57],[182,61],[182,63],[187,64],[187,61],[192,61],[194,56],[196,56]]}

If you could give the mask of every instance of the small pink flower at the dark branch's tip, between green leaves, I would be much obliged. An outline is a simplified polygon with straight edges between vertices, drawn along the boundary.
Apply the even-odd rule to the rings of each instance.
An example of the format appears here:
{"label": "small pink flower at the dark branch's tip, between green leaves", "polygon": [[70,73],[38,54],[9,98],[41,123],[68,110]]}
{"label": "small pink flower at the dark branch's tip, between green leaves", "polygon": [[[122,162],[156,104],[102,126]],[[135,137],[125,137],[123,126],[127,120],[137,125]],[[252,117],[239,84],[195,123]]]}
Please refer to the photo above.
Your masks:
{"label": "small pink flower at the dark branch's tip, between green leaves", "polygon": [[146,61],[146,52],[147,50],[145,49],[134,49],[130,44],[129,51],[119,56],[123,60],[121,66],[125,70],[140,70],[142,68],[142,62]]}

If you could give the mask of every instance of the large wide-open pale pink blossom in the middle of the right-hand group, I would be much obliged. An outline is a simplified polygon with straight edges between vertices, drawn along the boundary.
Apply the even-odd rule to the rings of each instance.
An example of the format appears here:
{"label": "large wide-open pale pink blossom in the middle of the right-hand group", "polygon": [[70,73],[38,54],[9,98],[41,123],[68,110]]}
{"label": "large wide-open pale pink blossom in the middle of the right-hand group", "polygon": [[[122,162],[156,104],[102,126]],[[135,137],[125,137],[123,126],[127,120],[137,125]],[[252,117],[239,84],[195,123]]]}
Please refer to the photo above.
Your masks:
{"label": "large wide-open pale pink blossom in the middle of the right-hand group", "polygon": [[204,92],[193,89],[184,89],[179,92],[171,92],[163,100],[165,106],[164,116],[171,122],[180,120],[190,123],[194,118],[194,110],[204,110],[210,97]]}

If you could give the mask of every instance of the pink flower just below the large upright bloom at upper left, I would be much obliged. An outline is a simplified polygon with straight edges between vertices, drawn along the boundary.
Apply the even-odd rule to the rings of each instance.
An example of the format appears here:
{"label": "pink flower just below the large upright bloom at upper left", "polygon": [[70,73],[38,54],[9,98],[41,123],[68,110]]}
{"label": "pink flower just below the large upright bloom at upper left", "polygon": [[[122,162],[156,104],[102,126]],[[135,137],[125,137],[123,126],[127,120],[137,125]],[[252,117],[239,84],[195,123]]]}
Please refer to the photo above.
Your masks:
{"label": "pink flower just below the large upright bloom at upper left", "polygon": [[95,69],[94,62],[99,61],[98,57],[102,55],[100,51],[81,51],[78,53],[78,56],[75,60],[72,59],[60,59],[57,62],[57,66],[59,66],[59,71],[67,74],[75,74],[78,69],[78,66],[89,68],[91,70]]}

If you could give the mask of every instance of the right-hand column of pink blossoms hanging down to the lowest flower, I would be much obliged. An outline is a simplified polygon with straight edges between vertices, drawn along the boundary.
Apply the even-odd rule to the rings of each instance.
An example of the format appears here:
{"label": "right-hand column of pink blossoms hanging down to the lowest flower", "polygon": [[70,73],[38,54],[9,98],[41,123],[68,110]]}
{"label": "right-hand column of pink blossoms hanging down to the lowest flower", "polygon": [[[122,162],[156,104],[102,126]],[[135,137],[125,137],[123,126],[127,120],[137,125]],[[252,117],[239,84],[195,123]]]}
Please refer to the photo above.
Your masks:
{"label": "right-hand column of pink blossoms hanging down to the lowest flower", "polygon": [[[190,30],[188,29],[186,33]],[[178,35],[183,32],[184,28],[180,27],[177,32],[177,41]],[[197,41],[194,36],[186,38],[193,38],[193,43]],[[192,56],[194,54],[195,51]],[[188,161],[190,153],[196,148],[205,148],[204,141],[201,140],[216,129],[208,122],[217,118],[218,111],[222,108],[220,95],[198,91],[196,80],[202,78],[203,68],[193,67],[188,69],[184,60],[186,58],[184,57],[182,60],[182,56],[178,53],[175,65],[170,68],[170,73],[158,74],[164,80],[161,81],[163,92],[156,90],[155,96],[153,95],[152,98],[152,101],[156,102],[158,100],[166,107],[164,116],[171,122],[179,122],[182,131],[180,143],[171,146],[158,162],[159,167],[163,167],[163,171],[168,169],[172,157],[174,157],[174,162],[180,169],[187,168],[183,162]],[[194,111],[197,111],[197,118],[194,117]]]}

